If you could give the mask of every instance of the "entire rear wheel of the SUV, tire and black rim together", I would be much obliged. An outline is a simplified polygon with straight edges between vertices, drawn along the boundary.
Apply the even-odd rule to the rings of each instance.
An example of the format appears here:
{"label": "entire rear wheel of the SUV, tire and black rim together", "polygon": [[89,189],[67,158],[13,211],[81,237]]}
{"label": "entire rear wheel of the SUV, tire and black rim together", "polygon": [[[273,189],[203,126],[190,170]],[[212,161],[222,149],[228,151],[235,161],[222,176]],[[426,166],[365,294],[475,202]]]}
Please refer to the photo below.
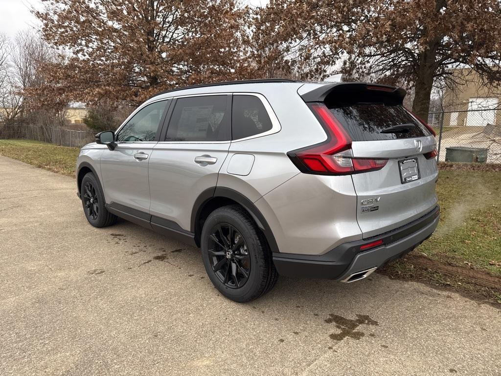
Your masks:
{"label": "entire rear wheel of the SUV, tire and black rim together", "polygon": [[239,303],[257,299],[277,282],[268,243],[240,206],[213,211],[203,224],[200,243],[205,271],[228,299]]}

